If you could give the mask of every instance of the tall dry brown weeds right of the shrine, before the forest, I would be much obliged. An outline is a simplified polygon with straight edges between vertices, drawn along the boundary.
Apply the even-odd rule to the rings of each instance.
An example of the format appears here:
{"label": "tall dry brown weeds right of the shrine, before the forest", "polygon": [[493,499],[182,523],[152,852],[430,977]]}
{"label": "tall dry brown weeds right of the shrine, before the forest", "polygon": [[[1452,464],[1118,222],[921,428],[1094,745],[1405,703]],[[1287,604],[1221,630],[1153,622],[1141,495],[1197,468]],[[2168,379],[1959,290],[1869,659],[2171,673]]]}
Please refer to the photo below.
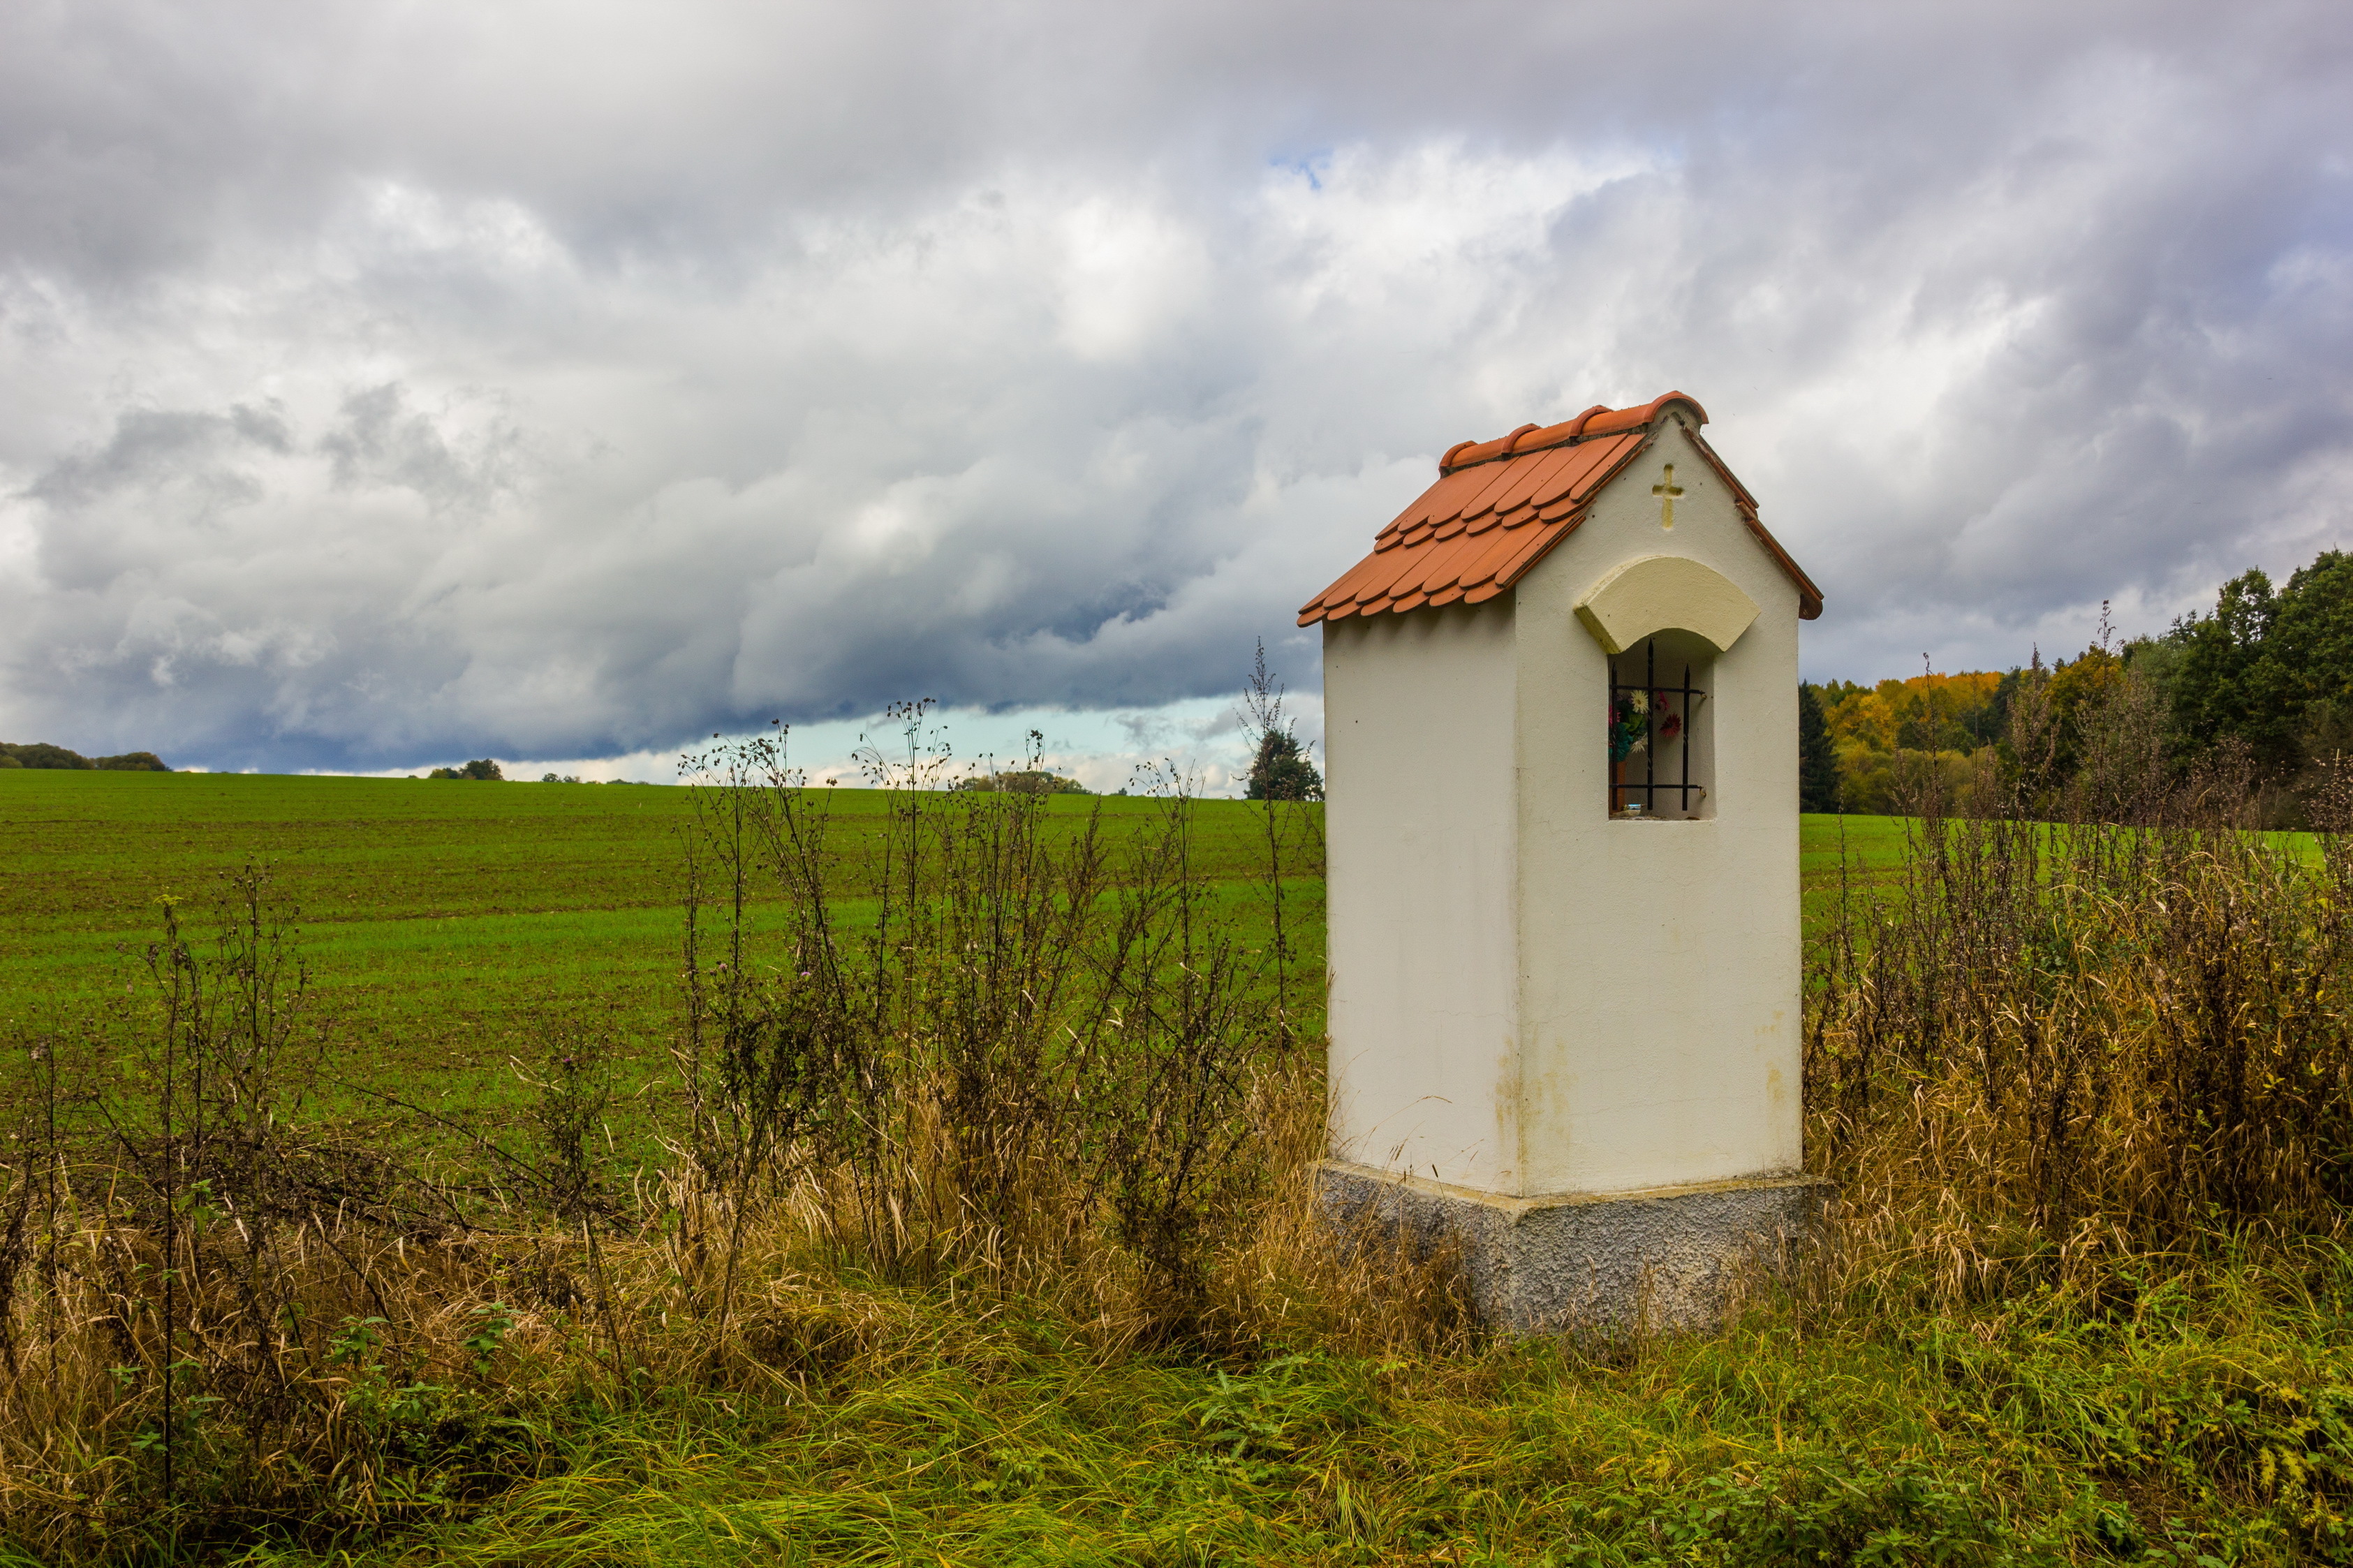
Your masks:
{"label": "tall dry brown weeds right of the shrine, before the forest", "polygon": [[1807,1107],[1854,1283],[2106,1288],[2217,1236],[2334,1236],[2353,1196],[2353,826],[2259,833],[2240,756],[2167,768],[2125,683],[2059,723],[2028,683],[1962,812],[1925,775],[1892,885],[1809,949]]}

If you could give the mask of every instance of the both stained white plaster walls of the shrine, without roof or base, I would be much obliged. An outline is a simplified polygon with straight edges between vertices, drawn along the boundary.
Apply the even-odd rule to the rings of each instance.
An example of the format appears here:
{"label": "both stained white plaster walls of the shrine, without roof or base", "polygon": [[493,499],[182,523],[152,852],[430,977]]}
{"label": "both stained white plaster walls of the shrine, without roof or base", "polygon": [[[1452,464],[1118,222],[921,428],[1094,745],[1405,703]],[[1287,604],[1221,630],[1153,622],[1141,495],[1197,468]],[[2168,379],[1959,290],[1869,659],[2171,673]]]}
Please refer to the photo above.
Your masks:
{"label": "both stained white plaster walls of the shrine, without roof or base", "polygon": [[[1645,553],[1762,607],[1697,822],[1605,815],[1574,605]],[[1325,624],[1325,720],[1339,1158],[1504,1196],[1798,1168],[1798,591],[1678,426],[1513,593]]]}

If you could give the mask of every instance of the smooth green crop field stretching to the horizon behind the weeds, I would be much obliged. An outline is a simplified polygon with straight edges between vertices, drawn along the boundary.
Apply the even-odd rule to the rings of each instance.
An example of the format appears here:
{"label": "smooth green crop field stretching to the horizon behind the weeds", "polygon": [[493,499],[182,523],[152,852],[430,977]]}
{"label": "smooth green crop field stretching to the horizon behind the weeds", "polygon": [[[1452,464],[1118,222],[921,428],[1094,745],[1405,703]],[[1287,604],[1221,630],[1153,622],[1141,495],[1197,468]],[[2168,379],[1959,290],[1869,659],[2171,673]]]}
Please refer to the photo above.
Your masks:
{"label": "smooth green crop field stretching to the horizon behind the weeds", "polygon": [[[659,1048],[673,1024],[692,791],[202,772],[0,772],[0,1019],[120,996],[160,897],[202,930],[224,871],[266,862],[299,911],[315,1015],[402,1074],[499,1067],[551,1010],[593,1001]],[[882,793],[826,791],[845,848]],[[1141,822],[1144,798],[1059,796],[1052,822]],[[1202,869],[1264,918],[1257,808],[1198,803]],[[1849,864],[1901,855],[1892,817],[1807,817],[1809,904]],[[1322,961],[1318,845],[1289,855],[1308,965]],[[854,883],[845,883],[845,892]]]}

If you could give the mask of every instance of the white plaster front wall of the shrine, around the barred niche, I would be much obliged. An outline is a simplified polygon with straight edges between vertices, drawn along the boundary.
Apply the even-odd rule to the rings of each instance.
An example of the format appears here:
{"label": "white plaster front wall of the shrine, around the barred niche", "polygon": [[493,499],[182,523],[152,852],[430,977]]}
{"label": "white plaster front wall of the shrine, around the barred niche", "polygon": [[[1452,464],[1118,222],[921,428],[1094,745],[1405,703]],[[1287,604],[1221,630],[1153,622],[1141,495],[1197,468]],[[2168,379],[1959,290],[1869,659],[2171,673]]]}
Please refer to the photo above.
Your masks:
{"label": "white plaster front wall of the shrine, around the barred niche", "polygon": [[[1685,487],[1671,532],[1652,497],[1668,461]],[[1704,819],[1612,822],[1609,659],[1574,605],[1657,551],[1722,572],[1762,614],[1713,662]],[[1795,1170],[1798,589],[1668,426],[1513,600],[1522,968],[1508,1191]]]}

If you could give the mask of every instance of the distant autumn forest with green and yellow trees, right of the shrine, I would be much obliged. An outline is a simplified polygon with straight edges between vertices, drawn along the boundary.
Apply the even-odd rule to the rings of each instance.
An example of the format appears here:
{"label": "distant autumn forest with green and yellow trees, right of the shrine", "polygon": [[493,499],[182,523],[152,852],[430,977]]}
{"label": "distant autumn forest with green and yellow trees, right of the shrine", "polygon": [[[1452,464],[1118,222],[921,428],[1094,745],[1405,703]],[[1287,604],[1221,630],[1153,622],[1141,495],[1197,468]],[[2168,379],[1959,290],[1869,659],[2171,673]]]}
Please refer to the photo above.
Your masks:
{"label": "distant autumn forest with green and yellow trees, right of the shrine", "polygon": [[[2282,586],[2233,577],[2212,614],[2162,636],[2101,636],[2071,659],[2038,652],[2000,673],[1805,685],[1798,706],[1809,812],[1897,812],[1927,768],[1965,796],[1988,751],[2064,789],[2099,732],[2129,723],[2174,775],[2228,756],[2268,796],[2266,815],[2297,826],[2318,768],[2353,753],[2353,556],[2325,551]],[[2033,758],[2017,735],[2028,706]]]}

